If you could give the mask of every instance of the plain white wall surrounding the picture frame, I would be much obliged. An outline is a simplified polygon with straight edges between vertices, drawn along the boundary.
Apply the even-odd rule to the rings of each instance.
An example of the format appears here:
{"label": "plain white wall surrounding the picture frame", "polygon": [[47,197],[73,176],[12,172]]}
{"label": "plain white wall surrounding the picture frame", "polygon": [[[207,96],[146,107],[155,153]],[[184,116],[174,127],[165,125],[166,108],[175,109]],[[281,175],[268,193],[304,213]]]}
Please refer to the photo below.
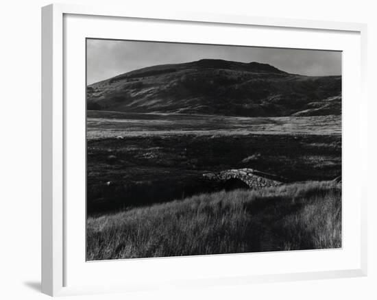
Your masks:
{"label": "plain white wall surrounding the picture frame", "polygon": [[[369,276],[311,282],[226,286],[177,292],[81,296],[75,299],[377,299],[374,195],[377,153],[377,18],[374,1],[65,1],[148,5],[204,11],[368,23]],[[45,0],[3,1],[0,10],[0,298],[47,299],[40,294],[40,7]],[[136,4],[137,3],[137,4]],[[354,99],[358,101],[358,99]]]}

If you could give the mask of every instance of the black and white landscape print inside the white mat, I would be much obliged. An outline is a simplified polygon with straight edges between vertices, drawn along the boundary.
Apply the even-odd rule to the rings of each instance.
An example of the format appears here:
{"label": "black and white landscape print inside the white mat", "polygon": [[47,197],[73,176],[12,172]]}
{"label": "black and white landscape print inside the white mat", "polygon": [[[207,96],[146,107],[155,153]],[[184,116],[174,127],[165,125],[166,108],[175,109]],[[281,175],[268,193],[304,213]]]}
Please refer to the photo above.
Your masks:
{"label": "black and white landscape print inside the white mat", "polygon": [[341,51],[87,38],[86,260],[341,248],[341,74]]}

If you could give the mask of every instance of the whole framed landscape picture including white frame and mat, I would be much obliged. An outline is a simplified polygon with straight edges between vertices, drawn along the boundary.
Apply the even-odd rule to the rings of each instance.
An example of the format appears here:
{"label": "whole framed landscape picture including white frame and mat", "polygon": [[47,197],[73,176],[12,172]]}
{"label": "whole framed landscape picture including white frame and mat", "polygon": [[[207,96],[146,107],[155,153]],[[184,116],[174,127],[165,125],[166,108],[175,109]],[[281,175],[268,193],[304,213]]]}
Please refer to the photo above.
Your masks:
{"label": "whole framed landscape picture including white frame and mat", "polygon": [[365,276],[365,36],[42,8],[42,292]]}

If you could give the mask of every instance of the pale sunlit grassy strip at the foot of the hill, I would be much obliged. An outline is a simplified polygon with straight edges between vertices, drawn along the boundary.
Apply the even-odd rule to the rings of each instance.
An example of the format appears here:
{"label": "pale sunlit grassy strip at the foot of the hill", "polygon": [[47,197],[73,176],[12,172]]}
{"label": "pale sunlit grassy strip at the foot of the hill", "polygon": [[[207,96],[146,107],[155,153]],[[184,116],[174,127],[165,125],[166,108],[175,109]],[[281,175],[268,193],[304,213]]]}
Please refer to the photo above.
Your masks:
{"label": "pale sunlit grassy strip at the foot of the hill", "polygon": [[88,110],[88,140],[117,136],[341,135],[341,116],[241,117]]}

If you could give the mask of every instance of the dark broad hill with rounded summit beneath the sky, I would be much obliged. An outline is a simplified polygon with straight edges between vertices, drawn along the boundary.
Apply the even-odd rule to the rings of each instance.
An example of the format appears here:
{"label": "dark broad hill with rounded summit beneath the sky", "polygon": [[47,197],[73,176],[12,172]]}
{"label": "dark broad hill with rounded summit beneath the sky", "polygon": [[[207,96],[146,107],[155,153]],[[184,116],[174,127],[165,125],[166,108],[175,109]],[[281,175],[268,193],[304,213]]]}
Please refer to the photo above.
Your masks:
{"label": "dark broad hill with rounded summit beneath the sky", "polygon": [[289,74],[258,62],[151,66],[92,84],[88,110],[229,116],[341,114],[341,76]]}

